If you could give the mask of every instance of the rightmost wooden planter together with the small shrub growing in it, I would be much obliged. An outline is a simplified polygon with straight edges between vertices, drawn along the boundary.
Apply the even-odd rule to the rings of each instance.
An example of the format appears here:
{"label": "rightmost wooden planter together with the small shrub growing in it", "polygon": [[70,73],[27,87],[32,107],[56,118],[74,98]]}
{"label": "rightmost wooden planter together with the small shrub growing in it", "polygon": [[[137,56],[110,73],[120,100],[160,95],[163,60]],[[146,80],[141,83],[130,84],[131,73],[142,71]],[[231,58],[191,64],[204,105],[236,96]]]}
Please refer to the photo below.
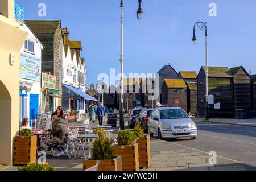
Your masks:
{"label": "rightmost wooden planter together with the small shrub growing in it", "polygon": [[148,168],[150,166],[150,136],[144,137],[144,131],[141,129],[141,123],[138,122],[134,127],[134,134],[138,137],[139,148],[139,167]]}

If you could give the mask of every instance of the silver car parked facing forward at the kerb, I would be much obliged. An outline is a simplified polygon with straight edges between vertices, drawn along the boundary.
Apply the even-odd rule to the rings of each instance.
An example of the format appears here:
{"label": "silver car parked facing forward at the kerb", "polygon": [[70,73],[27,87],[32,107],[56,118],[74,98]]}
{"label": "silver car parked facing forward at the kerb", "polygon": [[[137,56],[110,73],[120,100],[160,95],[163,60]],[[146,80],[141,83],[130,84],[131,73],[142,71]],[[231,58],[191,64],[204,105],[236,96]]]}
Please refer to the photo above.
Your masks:
{"label": "silver car parked facing forward at the kerb", "polygon": [[148,118],[148,135],[162,138],[189,137],[196,139],[195,122],[180,107],[162,107],[155,109]]}

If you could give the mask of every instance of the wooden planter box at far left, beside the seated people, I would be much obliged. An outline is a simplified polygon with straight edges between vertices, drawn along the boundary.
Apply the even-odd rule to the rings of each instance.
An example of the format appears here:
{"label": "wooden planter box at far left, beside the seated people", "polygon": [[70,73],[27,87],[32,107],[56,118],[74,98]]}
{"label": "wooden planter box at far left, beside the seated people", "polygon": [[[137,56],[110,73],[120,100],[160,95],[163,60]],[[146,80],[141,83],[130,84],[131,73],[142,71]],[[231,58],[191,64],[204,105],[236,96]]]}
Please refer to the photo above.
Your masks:
{"label": "wooden planter box at far left, beside the seated people", "polygon": [[36,163],[37,137],[16,136],[14,141],[14,164]]}

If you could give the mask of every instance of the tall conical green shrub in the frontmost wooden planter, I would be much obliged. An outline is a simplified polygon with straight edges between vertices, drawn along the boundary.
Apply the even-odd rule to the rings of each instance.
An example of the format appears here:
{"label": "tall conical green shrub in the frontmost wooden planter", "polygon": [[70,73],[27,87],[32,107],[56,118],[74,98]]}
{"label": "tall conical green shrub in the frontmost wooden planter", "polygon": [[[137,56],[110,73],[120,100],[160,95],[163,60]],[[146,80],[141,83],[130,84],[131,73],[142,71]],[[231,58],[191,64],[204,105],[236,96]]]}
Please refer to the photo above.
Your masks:
{"label": "tall conical green shrub in the frontmost wooden planter", "polygon": [[103,129],[96,129],[95,133],[98,135],[92,146],[93,160],[112,160],[114,159],[114,151],[112,150],[112,143]]}

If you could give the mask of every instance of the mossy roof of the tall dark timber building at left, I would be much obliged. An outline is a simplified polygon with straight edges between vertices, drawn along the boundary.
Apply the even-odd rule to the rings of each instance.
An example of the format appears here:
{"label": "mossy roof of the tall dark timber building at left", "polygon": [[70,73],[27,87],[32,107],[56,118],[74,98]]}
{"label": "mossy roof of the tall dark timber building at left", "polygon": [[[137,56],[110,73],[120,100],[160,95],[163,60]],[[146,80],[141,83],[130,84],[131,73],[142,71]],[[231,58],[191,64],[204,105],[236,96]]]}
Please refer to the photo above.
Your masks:
{"label": "mossy roof of the tall dark timber building at left", "polygon": [[54,34],[60,24],[60,20],[25,20],[25,22],[35,34]]}

